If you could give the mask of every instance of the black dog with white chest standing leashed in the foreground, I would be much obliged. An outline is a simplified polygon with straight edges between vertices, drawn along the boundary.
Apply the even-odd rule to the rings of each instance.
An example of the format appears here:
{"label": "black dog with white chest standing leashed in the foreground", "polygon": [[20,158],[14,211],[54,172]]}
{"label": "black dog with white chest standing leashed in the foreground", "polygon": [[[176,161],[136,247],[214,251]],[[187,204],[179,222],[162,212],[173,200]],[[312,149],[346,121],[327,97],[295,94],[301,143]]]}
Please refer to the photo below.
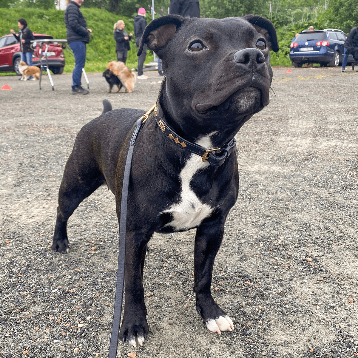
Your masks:
{"label": "black dog with white chest standing leashed in the foreground", "polygon": [[[163,60],[155,115],[134,150],[127,208],[125,308],[120,338],[142,345],[149,327],[142,285],[147,243],[154,232],[197,228],[194,244],[196,309],[212,332],[233,329],[211,295],[215,256],[238,195],[234,135],[269,103],[271,22],[256,15],[222,20],[166,15],[151,21],[144,44]],[[116,197],[134,124],[141,110],[103,113],[78,133],[59,189],[52,248],[68,252],[67,220],[100,185]]]}

